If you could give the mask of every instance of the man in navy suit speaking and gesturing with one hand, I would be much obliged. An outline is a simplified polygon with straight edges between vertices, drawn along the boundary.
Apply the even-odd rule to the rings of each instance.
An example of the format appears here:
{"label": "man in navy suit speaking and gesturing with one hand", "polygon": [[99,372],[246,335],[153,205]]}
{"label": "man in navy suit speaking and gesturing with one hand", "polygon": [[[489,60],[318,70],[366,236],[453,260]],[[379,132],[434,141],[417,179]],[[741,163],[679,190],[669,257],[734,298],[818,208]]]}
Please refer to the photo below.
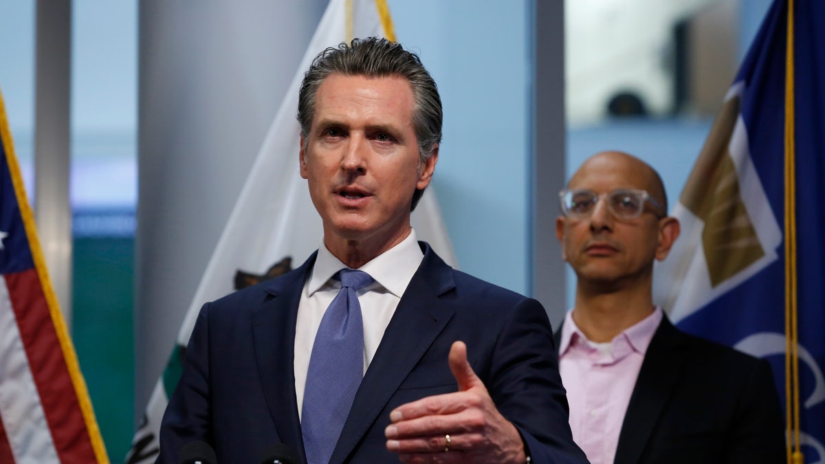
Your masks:
{"label": "man in navy suit speaking and gesturing with one hand", "polygon": [[[311,464],[585,462],[544,308],[450,268],[410,227],[441,141],[441,100],[418,57],[375,38],[323,51],[298,119],[323,244],[295,271],[204,305],[158,462],[195,441],[233,464],[260,462],[275,443],[301,462],[330,445]],[[356,291],[363,378],[340,432],[320,440],[308,411],[342,403],[334,389],[316,399],[331,382],[315,386],[313,348],[326,343],[342,269],[373,280]]]}

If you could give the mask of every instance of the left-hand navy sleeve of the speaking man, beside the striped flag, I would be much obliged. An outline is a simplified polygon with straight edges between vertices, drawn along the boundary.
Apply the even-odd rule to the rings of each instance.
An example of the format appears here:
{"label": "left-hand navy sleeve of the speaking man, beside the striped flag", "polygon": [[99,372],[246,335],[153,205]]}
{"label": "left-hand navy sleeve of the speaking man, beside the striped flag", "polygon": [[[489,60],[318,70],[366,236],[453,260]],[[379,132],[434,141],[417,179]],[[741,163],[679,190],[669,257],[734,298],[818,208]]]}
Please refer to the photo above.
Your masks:
{"label": "left-hand navy sleeve of the speaking man, beside the striped flag", "polygon": [[212,443],[209,389],[209,304],[200,309],[186,348],[181,379],[169,399],[160,429],[156,464],[177,464],[181,448],[197,440]]}

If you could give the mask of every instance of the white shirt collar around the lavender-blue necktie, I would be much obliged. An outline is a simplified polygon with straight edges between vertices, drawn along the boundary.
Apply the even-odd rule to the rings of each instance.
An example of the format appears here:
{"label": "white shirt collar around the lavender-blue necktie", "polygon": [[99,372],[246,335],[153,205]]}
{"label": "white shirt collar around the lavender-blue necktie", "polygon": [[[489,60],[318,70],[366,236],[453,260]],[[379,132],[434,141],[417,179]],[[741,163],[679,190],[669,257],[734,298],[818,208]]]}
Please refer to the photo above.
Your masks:
{"label": "white shirt collar around the lavender-blue necktie", "polygon": [[[418,270],[423,258],[424,254],[418,246],[415,230],[411,230],[407,238],[358,269],[370,274],[375,282],[400,298],[407,290],[409,282],[413,280],[413,274]],[[336,272],[343,268],[347,268],[347,265],[330,253],[322,239],[312,274],[309,277],[309,284],[306,287],[307,296],[320,290]]]}

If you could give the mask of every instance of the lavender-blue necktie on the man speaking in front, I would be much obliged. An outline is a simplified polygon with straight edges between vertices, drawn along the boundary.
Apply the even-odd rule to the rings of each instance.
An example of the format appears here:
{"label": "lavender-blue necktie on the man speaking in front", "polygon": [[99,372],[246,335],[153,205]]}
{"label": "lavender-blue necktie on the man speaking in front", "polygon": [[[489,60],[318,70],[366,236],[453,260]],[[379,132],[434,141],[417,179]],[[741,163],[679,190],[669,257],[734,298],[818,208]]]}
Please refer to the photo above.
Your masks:
{"label": "lavender-blue necktie on the man speaking in front", "polygon": [[327,464],[364,376],[364,324],[357,291],[370,274],[342,269],[341,291],[323,313],[309,357],[301,433],[309,464]]}

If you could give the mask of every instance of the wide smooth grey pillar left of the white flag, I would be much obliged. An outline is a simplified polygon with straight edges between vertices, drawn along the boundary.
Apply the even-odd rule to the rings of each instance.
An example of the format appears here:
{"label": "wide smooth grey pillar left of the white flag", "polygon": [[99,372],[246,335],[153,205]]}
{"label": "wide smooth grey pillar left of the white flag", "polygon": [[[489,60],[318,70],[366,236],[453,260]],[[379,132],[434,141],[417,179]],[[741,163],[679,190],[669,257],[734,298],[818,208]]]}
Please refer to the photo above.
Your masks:
{"label": "wide smooth grey pillar left of the white flag", "polygon": [[325,7],[139,3],[136,419]]}

